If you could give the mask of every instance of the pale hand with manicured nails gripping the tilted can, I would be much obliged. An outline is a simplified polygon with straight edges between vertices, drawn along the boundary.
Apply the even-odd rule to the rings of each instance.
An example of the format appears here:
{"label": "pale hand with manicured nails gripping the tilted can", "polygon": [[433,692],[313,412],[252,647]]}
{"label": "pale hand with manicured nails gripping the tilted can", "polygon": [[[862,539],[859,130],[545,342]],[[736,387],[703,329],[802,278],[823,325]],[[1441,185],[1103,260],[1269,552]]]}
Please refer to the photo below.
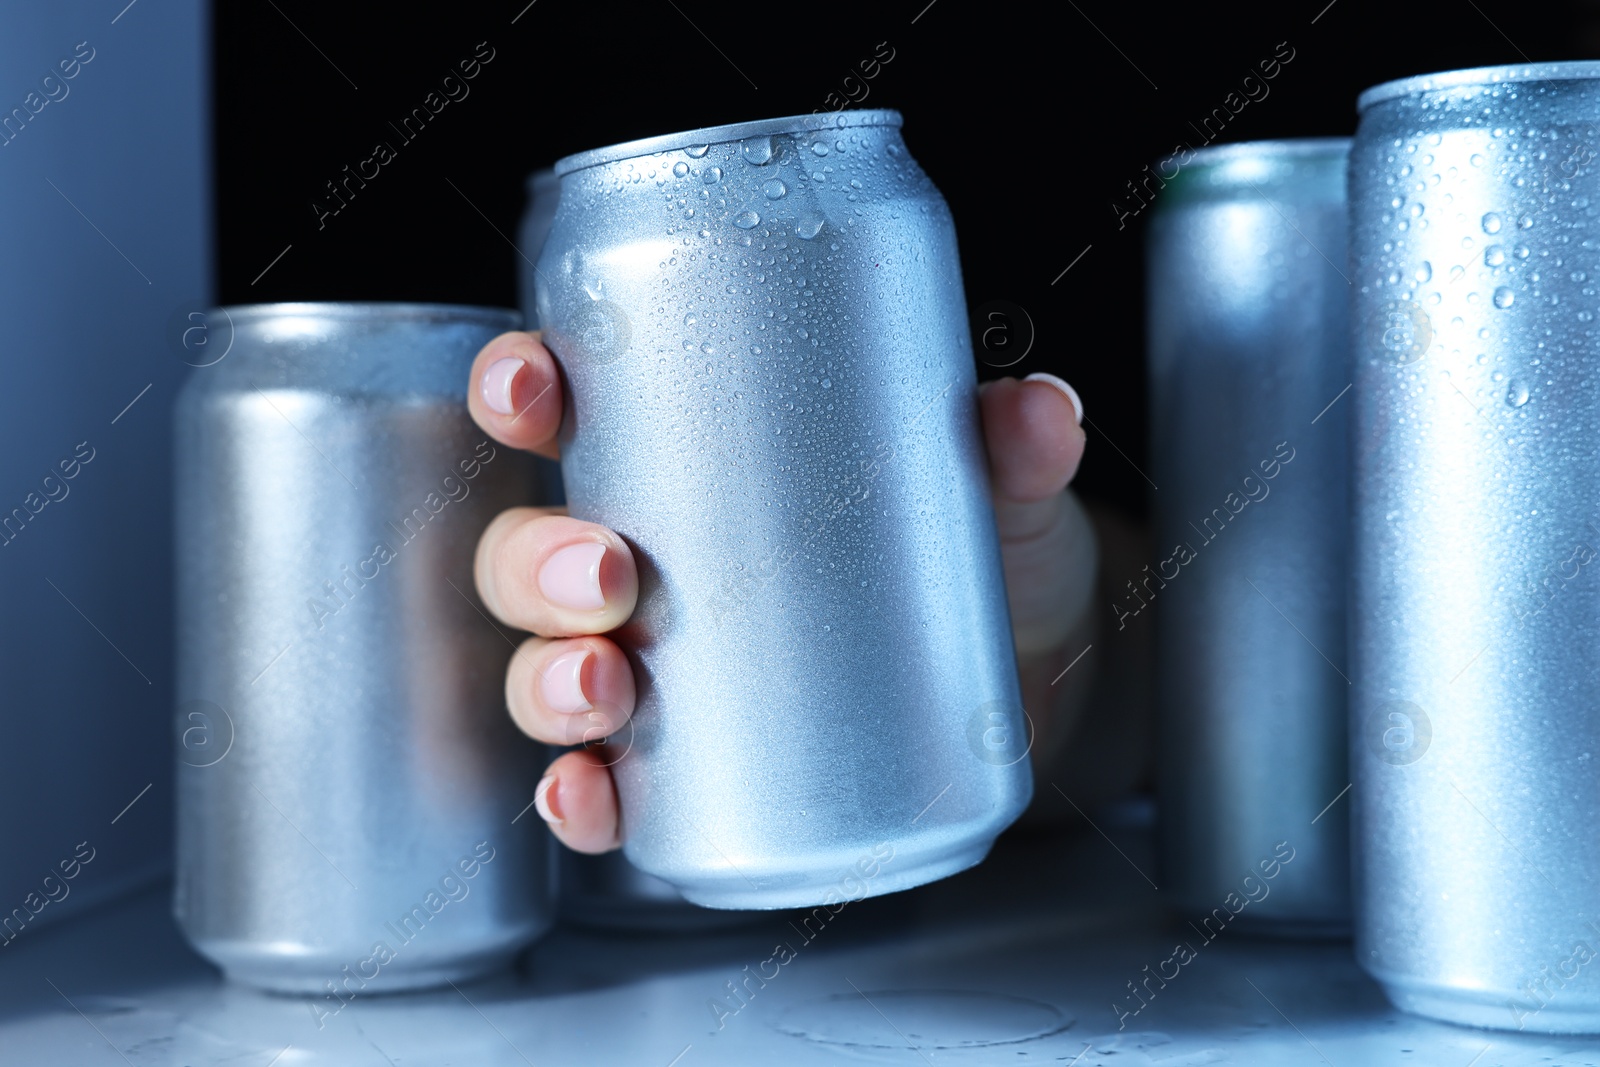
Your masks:
{"label": "pale hand with manicured nails gripping the tilted can", "polygon": [[[1094,536],[1067,483],[1083,458],[1077,394],[1048,376],[986,382],[979,390],[1035,768],[1070,734],[1082,686],[1051,680],[1083,648]],[[472,418],[496,442],[558,459],[566,397],[536,334],[501,334],[478,352],[467,390]],[[568,745],[619,729],[634,712],[634,672],[606,633],[638,600],[634,555],[614,531],[555,507],[515,507],[478,541],[485,606],[528,630],[506,670],[506,704],[530,737]],[[707,649],[707,654],[715,654]],[[606,760],[574,750],[550,763],[536,790],[539,816],[579,853],[622,841]]]}

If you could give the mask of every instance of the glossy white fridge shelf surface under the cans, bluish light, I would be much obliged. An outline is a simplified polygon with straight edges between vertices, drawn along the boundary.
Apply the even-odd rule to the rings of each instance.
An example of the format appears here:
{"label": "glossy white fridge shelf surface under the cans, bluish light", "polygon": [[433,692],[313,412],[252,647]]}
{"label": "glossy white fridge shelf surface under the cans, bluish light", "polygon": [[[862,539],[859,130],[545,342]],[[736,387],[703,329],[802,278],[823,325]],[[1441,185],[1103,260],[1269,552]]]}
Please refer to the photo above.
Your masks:
{"label": "glossy white fridge shelf surface under the cans, bluish light", "polygon": [[[1006,838],[934,886],[720,933],[558,928],[514,973],[442,992],[304,1000],[230,985],[165,888],[0,949],[0,1064],[203,1067],[1512,1067],[1600,1064],[1600,1038],[1469,1030],[1394,1011],[1349,944],[1224,931],[1118,1030],[1126,982],[1197,937],[1146,881],[1149,835]],[[1138,869],[1136,869],[1138,867]],[[794,960],[722,1025],[707,1003],[778,942]],[[730,1003],[725,1000],[725,1003]]]}

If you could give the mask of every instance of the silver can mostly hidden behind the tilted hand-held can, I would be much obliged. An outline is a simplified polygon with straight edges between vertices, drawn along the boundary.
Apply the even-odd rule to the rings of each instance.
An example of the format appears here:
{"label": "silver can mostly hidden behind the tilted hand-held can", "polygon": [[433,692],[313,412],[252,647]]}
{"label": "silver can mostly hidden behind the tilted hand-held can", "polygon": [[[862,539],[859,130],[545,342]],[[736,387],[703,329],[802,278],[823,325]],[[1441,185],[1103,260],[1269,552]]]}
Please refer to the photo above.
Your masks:
{"label": "silver can mostly hidden behind the tilted hand-held can", "polygon": [[[534,171],[528,178],[528,206],[517,234],[517,285],[522,296],[523,322],[538,330],[539,312],[534,299],[534,264],[550,235],[555,203],[562,184],[554,170]],[[560,467],[534,458],[539,470],[539,501],[546,506],[565,504]],[[672,885],[646,875],[622,853],[586,856],[571,849],[555,854],[557,907],[563,920],[608,929],[698,929],[707,923],[723,925],[731,913],[694,907]]]}

